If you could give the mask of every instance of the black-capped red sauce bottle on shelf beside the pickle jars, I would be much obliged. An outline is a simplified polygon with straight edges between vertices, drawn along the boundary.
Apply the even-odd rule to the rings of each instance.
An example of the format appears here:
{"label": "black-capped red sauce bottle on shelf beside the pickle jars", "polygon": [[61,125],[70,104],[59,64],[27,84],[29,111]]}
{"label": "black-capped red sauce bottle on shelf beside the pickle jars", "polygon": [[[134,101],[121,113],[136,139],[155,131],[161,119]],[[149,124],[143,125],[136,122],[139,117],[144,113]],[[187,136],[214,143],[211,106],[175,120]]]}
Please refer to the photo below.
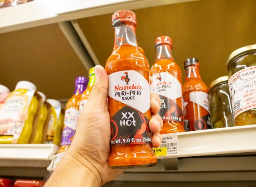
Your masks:
{"label": "black-capped red sauce bottle on shelf beside the pickle jars", "polygon": [[[209,89],[199,73],[199,62],[195,58],[186,59],[186,81],[183,85],[186,131],[212,128],[209,106]],[[188,129],[189,128],[189,129]]]}

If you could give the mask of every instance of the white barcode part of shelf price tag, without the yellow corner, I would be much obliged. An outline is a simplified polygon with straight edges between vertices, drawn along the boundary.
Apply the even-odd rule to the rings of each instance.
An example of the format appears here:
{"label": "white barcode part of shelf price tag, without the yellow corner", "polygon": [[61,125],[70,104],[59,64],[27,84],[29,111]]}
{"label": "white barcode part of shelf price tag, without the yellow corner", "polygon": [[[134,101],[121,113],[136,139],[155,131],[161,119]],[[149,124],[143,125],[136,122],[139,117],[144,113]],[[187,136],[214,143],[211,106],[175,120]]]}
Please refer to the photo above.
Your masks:
{"label": "white barcode part of shelf price tag, without the yellow corner", "polygon": [[178,155],[177,133],[161,134],[162,142],[160,148],[167,148],[167,156]]}

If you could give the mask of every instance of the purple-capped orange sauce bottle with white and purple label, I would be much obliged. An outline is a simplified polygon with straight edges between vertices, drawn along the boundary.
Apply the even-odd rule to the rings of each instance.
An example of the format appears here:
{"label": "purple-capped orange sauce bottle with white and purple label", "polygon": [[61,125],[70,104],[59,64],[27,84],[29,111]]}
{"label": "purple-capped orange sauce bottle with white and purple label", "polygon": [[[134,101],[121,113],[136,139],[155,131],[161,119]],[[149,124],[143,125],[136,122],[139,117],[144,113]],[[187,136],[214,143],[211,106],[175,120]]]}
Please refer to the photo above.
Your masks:
{"label": "purple-capped orange sauce bottle with white and purple label", "polygon": [[64,116],[64,127],[61,136],[59,153],[68,150],[75,132],[78,122],[78,108],[81,100],[81,94],[88,85],[88,79],[85,77],[77,77],[75,81],[75,91],[73,96],[66,104],[66,111]]}

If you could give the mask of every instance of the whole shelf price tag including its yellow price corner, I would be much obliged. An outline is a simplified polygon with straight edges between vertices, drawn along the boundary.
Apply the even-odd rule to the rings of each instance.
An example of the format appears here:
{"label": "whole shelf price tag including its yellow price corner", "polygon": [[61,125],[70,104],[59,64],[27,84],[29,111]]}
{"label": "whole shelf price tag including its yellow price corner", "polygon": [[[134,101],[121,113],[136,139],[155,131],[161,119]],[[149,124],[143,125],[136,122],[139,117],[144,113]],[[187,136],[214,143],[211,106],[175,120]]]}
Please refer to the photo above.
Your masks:
{"label": "whole shelf price tag including its yellow price corner", "polygon": [[162,142],[161,142],[160,148],[153,148],[156,156],[178,155],[179,149],[178,149],[177,133],[161,134],[161,137],[162,137]]}

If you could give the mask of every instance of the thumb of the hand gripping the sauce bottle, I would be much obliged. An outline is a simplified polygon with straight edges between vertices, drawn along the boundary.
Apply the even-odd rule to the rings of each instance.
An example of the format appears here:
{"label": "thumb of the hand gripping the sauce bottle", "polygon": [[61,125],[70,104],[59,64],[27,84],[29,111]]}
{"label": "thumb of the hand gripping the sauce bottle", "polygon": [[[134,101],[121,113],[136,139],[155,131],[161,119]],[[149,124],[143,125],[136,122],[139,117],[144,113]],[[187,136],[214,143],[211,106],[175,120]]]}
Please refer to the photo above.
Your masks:
{"label": "thumb of the hand gripping the sauce bottle", "polygon": [[108,74],[104,67],[96,65],[94,67],[95,83],[88,99],[88,105],[94,108],[108,109],[107,97],[108,97]]}

